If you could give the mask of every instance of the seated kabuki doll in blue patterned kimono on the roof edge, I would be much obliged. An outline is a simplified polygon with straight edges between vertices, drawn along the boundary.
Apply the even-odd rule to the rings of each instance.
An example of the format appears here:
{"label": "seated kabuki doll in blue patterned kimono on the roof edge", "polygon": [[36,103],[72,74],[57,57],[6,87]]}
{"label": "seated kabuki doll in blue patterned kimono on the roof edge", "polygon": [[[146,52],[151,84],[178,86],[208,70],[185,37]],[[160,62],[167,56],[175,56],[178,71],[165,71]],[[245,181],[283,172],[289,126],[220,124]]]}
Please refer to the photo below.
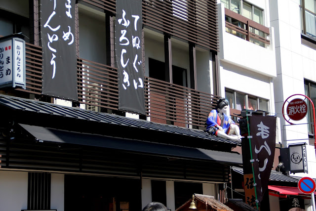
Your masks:
{"label": "seated kabuki doll in blue patterned kimono on the roof edge", "polygon": [[206,130],[212,135],[229,140],[241,141],[240,130],[235,122],[226,115],[229,103],[225,98],[217,101],[217,106],[212,110],[207,118]]}

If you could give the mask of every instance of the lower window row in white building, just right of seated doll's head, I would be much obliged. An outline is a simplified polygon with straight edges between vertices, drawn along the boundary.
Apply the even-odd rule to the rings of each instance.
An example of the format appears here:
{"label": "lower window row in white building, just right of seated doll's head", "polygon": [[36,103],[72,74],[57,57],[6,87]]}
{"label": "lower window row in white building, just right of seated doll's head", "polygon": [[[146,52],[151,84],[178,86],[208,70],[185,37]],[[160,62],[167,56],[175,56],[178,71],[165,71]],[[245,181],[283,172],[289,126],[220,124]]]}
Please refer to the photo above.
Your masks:
{"label": "lower window row in white building, just right of seated doll's head", "polygon": [[229,101],[230,107],[237,110],[263,110],[269,111],[269,100],[225,89],[225,98]]}

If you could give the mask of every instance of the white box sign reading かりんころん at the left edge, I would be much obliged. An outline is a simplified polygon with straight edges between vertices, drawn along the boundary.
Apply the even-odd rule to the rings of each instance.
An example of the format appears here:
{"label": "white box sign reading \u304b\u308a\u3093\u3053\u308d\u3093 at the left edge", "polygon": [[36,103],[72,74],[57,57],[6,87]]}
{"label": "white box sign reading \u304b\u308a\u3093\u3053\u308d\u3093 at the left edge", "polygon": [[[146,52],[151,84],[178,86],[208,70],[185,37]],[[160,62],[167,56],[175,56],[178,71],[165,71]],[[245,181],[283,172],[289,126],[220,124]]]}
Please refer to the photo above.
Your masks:
{"label": "white box sign reading \u304b\u308a\u3093\u3053\u308d\u3093 at the left edge", "polygon": [[13,36],[0,40],[0,87],[25,87],[25,41]]}

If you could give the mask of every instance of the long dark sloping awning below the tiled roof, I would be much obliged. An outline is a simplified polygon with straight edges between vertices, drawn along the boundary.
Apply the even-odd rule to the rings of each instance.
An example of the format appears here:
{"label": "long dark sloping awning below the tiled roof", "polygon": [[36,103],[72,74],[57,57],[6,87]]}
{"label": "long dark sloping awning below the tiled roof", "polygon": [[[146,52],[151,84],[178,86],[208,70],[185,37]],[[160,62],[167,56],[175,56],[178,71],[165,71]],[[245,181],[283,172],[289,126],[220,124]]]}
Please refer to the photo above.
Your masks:
{"label": "long dark sloping awning below the tiled roof", "polygon": [[220,152],[199,148],[175,146],[133,139],[115,138],[105,135],[81,133],[60,130],[49,127],[39,127],[19,124],[40,142],[56,142],[65,144],[79,144],[95,147],[105,147],[130,151],[133,153],[154,154],[190,160],[216,161],[229,165],[241,165],[242,157],[237,153]]}

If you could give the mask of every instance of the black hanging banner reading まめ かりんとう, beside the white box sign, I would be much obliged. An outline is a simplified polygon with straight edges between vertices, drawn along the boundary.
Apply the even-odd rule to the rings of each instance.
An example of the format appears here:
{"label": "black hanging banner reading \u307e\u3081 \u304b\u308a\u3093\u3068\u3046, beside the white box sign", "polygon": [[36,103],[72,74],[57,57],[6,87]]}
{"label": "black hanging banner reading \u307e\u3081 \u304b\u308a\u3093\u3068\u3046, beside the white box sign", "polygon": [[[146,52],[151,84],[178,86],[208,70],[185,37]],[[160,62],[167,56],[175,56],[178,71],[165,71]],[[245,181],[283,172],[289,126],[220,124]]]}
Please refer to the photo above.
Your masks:
{"label": "black hanging banner reading \u307e\u3081 \u304b\u308a\u3093\u3068\u3046, beside the white box sign", "polygon": [[41,0],[42,94],[78,100],[76,0]]}

